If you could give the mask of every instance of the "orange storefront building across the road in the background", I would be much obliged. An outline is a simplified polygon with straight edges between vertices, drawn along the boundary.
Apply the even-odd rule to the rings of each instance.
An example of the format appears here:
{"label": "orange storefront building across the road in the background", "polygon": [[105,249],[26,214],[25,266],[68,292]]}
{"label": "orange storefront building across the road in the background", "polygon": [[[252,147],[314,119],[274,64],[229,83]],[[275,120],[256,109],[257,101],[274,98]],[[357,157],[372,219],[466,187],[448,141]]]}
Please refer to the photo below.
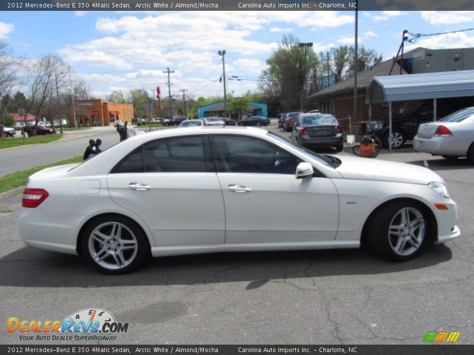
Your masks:
{"label": "orange storefront building across the road in the background", "polygon": [[[132,122],[133,104],[106,103],[102,100],[79,100],[74,103],[76,120],[80,120],[82,126],[115,125],[117,120],[122,123]],[[69,121],[74,124],[74,118]]]}

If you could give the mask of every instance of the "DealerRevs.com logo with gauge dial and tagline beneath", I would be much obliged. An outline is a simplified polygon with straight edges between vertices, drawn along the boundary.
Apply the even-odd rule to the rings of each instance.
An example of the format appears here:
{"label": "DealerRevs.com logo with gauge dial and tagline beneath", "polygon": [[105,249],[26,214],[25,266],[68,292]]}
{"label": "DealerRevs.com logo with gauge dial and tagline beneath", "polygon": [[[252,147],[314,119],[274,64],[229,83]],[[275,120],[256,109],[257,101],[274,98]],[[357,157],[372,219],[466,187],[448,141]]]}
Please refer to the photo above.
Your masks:
{"label": "DealerRevs.com logo with gauge dial and tagline beneath", "polygon": [[92,308],[73,313],[63,320],[19,320],[10,317],[6,331],[19,333],[21,341],[114,341],[118,333],[128,331],[128,323],[120,323],[108,311]]}

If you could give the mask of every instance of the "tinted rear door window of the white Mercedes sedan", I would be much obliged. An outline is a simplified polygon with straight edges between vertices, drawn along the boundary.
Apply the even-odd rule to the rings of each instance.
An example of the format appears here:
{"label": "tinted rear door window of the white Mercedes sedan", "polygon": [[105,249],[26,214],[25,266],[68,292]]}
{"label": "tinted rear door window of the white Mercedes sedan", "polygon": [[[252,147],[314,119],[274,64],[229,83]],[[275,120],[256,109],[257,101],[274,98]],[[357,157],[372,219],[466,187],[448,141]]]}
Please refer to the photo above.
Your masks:
{"label": "tinted rear door window of the white Mercedes sedan", "polygon": [[189,136],[146,143],[123,159],[113,173],[207,172],[202,137]]}

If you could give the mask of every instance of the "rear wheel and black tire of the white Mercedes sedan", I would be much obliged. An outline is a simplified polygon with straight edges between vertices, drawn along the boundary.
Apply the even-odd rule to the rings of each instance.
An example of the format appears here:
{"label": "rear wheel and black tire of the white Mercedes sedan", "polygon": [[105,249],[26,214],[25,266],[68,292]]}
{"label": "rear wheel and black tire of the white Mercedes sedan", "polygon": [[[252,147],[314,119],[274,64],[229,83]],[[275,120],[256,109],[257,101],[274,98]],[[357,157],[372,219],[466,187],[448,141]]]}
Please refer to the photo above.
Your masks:
{"label": "rear wheel and black tire of the white Mercedes sedan", "polygon": [[82,254],[94,268],[106,274],[124,274],[140,266],[150,252],[142,229],[131,219],[103,215],[86,226]]}

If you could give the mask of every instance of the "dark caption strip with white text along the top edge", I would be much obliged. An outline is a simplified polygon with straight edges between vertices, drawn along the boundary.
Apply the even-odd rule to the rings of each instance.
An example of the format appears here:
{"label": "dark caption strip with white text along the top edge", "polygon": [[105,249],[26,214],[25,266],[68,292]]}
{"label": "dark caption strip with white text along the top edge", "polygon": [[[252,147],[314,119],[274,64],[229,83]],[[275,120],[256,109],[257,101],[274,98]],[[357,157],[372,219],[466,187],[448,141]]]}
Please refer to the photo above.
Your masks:
{"label": "dark caption strip with white text along the top edge", "polygon": [[383,11],[474,10],[472,0],[30,0],[1,1],[1,11]]}

